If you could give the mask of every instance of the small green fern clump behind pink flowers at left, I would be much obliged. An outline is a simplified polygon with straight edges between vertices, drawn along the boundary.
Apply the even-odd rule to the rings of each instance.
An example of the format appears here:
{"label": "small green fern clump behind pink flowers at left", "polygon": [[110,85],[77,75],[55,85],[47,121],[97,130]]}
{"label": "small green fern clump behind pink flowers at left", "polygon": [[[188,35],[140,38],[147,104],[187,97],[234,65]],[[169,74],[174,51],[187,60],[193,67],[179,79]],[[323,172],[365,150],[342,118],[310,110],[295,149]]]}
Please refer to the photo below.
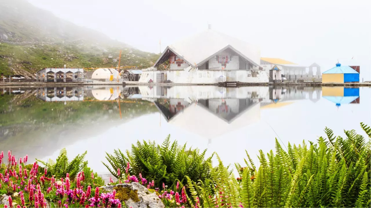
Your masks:
{"label": "small green fern clump behind pink flowers at left", "polygon": [[68,161],[66,148],[63,148],[60,150],[59,156],[55,162],[50,159],[47,162],[37,159],[36,161],[45,165],[48,170],[47,176],[55,175],[57,178],[61,178],[66,177],[66,174],[69,173],[70,178],[73,179],[78,172],[82,171],[86,165],[88,165],[88,161],[84,161],[86,153],[87,151],[81,155],[78,154],[72,161]]}

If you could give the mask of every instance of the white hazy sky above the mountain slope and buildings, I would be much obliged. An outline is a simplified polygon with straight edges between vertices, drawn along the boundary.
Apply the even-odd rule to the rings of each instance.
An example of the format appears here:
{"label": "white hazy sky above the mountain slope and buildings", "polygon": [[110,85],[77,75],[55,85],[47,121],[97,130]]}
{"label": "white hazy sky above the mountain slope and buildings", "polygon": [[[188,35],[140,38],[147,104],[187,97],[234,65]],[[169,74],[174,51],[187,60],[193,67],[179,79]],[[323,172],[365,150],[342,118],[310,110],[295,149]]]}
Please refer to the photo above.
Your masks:
{"label": "white hazy sky above the mountain slope and buildings", "polygon": [[371,3],[366,0],[28,1],[144,51],[159,53],[160,39],[164,49],[210,23],[259,45],[262,57],[305,66],[316,62],[322,72],[339,60],[361,66],[361,79],[371,80]]}

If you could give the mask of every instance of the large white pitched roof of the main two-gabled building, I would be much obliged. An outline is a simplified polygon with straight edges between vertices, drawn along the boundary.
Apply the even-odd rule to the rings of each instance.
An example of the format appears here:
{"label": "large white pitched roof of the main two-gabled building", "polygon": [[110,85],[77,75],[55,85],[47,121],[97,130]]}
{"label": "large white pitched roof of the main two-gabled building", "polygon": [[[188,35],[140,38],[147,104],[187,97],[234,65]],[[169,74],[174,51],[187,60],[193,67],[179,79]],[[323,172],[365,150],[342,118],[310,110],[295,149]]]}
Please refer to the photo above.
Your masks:
{"label": "large white pitched roof of the main two-gabled building", "polygon": [[231,48],[255,66],[259,66],[259,47],[211,29],[207,29],[166,47],[155,65],[166,54],[165,52],[167,50],[173,51],[177,56],[183,57],[190,65],[196,66],[203,64],[213,55],[215,56],[216,53],[226,48]]}

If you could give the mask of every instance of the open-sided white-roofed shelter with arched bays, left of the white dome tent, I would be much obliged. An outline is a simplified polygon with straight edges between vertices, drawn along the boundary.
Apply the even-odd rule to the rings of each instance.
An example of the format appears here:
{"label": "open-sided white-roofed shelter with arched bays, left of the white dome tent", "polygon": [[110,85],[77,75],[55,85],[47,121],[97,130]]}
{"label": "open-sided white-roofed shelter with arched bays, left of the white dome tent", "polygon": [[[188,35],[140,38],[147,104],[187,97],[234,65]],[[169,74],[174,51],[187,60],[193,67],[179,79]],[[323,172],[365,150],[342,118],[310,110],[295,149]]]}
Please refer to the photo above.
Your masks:
{"label": "open-sided white-roofed shelter with arched bays, left of the white dome tent", "polygon": [[[77,73],[77,77],[75,77],[75,74]],[[72,81],[79,80],[79,78],[82,79],[84,73],[83,68],[43,68],[40,71],[36,72],[36,81],[45,81],[47,82],[47,75],[53,74],[54,82],[57,81],[57,79],[62,79],[63,82],[66,82],[66,74],[72,74]]]}

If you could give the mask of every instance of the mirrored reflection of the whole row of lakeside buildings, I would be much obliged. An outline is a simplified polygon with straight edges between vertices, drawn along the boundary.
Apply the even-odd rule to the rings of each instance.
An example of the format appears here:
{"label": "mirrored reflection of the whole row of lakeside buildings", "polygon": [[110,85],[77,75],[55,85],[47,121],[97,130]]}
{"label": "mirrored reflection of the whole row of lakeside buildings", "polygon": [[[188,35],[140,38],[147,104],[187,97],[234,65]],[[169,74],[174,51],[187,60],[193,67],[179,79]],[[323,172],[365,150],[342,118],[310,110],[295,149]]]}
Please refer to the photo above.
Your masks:
{"label": "mirrored reflection of the whole row of lakeside buildings", "polygon": [[44,101],[147,100],[165,120],[209,140],[260,120],[260,110],[280,108],[298,100],[318,102],[322,96],[336,106],[359,103],[359,88],[269,86],[132,86],[43,87],[37,97]]}

